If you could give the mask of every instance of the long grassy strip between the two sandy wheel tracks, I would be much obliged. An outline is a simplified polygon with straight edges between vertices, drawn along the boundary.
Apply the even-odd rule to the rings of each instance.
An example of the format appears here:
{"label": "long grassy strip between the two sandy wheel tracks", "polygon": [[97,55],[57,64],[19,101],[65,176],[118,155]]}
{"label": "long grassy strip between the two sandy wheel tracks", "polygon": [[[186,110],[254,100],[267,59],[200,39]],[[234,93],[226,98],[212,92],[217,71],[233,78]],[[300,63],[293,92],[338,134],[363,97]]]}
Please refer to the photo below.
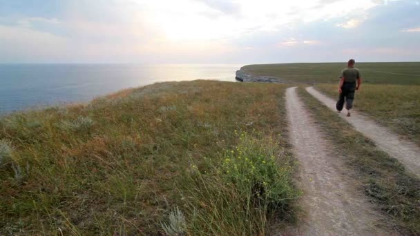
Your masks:
{"label": "long grassy strip between the two sandy wheel tracks", "polygon": [[323,128],[325,137],[334,144],[334,150],[340,153],[338,158],[345,157],[354,169],[354,173],[347,174],[358,179],[360,190],[392,219],[385,224],[403,235],[419,235],[420,180],[408,175],[397,159],[376,148],[370,139],[356,132],[308,92],[300,88],[299,95]]}

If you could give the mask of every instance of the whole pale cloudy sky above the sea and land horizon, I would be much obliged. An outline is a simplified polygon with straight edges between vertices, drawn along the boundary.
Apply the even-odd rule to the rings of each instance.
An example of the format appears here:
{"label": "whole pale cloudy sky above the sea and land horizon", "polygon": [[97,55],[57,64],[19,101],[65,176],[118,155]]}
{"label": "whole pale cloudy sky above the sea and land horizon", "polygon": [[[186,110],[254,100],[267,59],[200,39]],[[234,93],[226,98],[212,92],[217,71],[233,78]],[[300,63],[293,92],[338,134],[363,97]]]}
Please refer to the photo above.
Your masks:
{"label": "whole pale cloudy sky above the sea and land horizon", "polygon": [[0,0],[0,63],[420,61],[420,0]]}

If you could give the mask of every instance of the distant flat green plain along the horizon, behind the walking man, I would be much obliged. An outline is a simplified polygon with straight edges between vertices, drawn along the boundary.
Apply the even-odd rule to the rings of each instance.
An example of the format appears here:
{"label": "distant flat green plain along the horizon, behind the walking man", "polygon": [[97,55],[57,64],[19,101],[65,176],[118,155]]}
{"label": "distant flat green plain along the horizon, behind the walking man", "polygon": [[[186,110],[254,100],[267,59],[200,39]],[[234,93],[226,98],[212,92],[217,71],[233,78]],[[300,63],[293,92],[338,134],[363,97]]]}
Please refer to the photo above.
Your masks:
{"label": "distant flat green plain along the horizon, behind the walking man", "polygon": [[[346,63],[283,63],[244,66],[254,75],[278,77],[289,83],[337,83]],[[420,62],[356,63],[365,83],[420,85]]]}

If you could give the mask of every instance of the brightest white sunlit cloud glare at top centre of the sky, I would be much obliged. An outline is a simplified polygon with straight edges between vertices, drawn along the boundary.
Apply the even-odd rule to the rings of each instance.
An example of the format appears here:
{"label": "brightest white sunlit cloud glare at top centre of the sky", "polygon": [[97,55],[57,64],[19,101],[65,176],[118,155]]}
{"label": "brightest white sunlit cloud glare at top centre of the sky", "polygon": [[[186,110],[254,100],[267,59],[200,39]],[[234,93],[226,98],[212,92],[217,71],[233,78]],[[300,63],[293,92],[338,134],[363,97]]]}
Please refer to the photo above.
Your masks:
{"label": "brightest white sunlit cloud glare at top centre of the sky", "polygon": [[[314,22],[365,12],[376,6],[370,0],[178,0],[140,1],[151,24],[175,41],[235,39],[249,32],[276,32],[299,22]],[[204,4],[203,4],[204,3]],[[314,10],[316,6],[316,10]],[[220,14],[220,12],[230,14]],[[231,14],[234,12],[234,14]]]}

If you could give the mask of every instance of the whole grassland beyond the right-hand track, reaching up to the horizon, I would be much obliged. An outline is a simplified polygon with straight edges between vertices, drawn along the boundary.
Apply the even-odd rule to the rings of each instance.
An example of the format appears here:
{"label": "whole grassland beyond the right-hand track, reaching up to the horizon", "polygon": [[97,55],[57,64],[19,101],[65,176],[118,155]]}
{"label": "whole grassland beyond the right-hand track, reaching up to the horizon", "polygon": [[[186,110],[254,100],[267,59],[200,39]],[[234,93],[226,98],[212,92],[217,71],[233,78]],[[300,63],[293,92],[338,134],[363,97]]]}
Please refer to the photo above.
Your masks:
{"label": "whole grassland beyond the right-hand track, reaching up to the horizon", "polygon": [[[255,75],[312,83],[338,99],[338,75],[345,63],[290,63],[245,66]],[[420,145],[420,62],[356,63],[363,85],[355,108]]]}

